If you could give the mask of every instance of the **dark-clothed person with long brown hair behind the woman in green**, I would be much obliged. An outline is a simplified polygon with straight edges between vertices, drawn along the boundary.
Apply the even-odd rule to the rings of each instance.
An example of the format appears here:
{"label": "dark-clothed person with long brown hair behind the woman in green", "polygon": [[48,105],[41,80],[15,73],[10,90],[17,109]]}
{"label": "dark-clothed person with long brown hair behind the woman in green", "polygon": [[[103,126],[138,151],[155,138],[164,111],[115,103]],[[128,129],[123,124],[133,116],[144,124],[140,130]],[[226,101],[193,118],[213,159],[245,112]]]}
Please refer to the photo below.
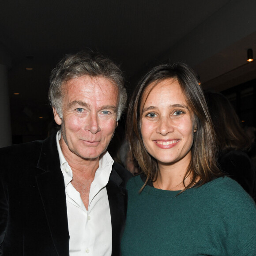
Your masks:
{"label": "dark-clothed person with long brown hair behind the woman in green", "polygon": [[229,100],[220,93],[204,94],[216,132],[220,169],[237,181],[256,201],[256,173],[248,150],[252,139],[246,135]]}

